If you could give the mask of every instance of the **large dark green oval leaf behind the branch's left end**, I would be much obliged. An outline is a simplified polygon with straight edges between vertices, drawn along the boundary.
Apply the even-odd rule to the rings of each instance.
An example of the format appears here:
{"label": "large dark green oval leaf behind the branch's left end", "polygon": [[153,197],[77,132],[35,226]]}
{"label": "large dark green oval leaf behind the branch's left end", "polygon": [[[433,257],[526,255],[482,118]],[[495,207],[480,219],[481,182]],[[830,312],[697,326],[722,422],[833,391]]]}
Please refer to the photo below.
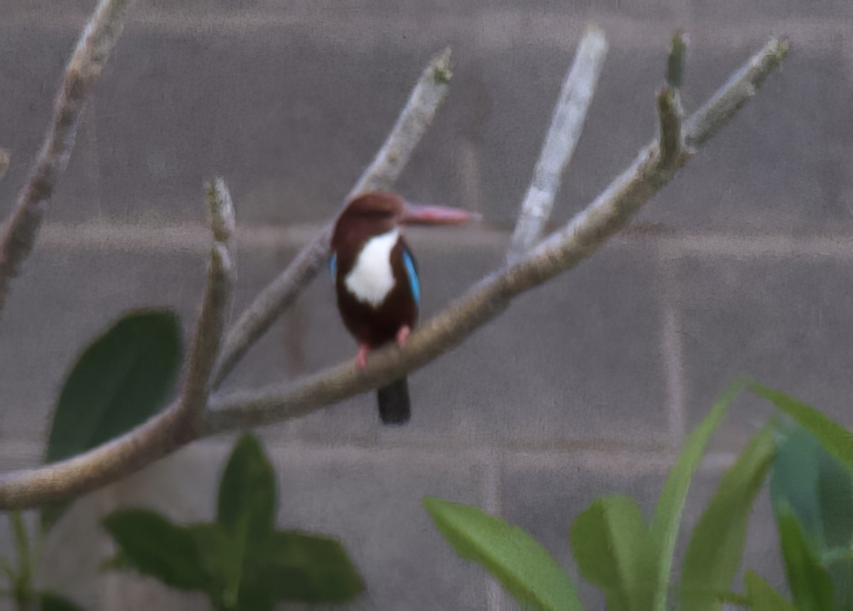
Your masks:
{"label": "large dark green oval leaf behind the branch's left end", "polygon": [[[53,414],[46,461],[53,463],[124,434],[165,403],[181,364],[181,329],[170,311],[132,311],[74,364]],[[45,529],[67,503],[44,508]]]}

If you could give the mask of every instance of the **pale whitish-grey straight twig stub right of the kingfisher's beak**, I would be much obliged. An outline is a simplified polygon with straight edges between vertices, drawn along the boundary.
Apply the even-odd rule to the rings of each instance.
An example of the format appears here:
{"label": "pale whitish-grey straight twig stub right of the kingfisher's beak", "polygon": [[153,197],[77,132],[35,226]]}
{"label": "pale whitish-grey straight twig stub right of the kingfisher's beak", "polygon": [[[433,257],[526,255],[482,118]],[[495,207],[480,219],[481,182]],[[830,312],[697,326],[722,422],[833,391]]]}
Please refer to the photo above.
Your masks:
{"label": "pale whitish-grey straight twig stub right of the kingfisher's beak", "polygon": [[589,102],[607,55],[607,40],[598,27],[589,26],[577,45],[575,60],[566,73],[551,126],[539,154],[533,179],[521,204],[518,223],[510,242],[508,261],[519,260],[542,237],[554,208],[560,178],[581,137]]}

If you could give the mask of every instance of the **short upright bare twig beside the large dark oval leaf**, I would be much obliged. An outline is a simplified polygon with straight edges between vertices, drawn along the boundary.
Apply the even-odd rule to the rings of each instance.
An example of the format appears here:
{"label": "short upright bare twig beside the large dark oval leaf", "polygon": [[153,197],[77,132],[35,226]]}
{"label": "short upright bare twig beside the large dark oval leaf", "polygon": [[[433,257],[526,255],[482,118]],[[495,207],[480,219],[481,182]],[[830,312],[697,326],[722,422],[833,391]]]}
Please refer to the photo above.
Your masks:
{"label": "short upright bare twig beside the large dark oval leaf", "polygon": [[189,349],[187,378],[183,385],[181,410],[188,426],[199,422],[210,394],[213,366],[231,313],[235,284],[234,206],[225,181],[217,178],[206,185],[206,197],[213,245],[207,268],[205,296],[196,323],[193,343]]}

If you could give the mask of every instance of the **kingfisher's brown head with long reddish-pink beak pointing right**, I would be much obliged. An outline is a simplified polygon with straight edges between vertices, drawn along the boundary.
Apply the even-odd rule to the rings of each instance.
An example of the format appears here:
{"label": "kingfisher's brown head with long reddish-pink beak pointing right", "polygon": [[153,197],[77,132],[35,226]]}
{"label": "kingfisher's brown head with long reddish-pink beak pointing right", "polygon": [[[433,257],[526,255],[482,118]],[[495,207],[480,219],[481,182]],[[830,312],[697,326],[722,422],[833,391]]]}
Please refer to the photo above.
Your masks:
{"label": "kingfisher's brown head with long reddish-pink beak pointing right", "polygon": [[394,230],[400,224],[461,224],[474,218],[471,212],[444,206],[421,206],[396,193],[371,191],[357,195],[340,213],[334,226],[332,250],[363,244],[373,236]]}

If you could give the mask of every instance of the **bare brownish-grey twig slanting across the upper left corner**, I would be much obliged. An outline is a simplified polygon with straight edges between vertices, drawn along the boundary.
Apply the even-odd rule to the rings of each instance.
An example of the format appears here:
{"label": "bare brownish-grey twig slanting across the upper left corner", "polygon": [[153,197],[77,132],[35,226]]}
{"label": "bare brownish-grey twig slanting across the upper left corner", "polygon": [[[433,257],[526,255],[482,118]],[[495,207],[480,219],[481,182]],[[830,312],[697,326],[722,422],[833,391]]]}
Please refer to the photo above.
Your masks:
{"label": "bare brownish-grey twig slanting across the upper left corner", "polygon": [[71,156],[85,102],[119,39],[131,2],[101,0],[68,61],[48,135],[0,241],[0,310],[9,294],[9,283],[18,276],[35,246],[50,195]]}

